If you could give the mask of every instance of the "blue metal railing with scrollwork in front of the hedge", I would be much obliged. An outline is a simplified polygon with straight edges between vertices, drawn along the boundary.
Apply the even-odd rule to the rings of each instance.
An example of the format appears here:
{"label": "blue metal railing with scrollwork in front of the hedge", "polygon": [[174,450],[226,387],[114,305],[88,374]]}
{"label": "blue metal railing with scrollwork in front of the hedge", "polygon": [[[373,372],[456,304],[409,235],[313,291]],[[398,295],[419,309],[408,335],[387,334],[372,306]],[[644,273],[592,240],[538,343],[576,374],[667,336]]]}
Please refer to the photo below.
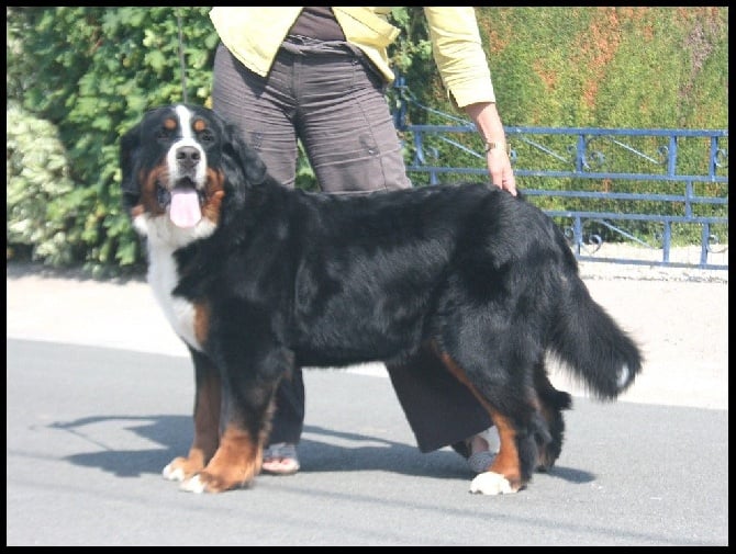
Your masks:
{"label": "blue metal railing with scrollwork in front of the hedge", "polygon": [[[456,180],[448,176],[488,178],[482,144],[471,122],[420,104],[401,79],[395,88],[400,103],[394,124],[412,137],[410,176],[428,184]],[[451,124],[409,124],[410,104]],[[508,126],[505,132],[524,194],[560,224],[579,260],[728,269],[727,129]],[[458,157],[465,161],[460,167]],[[681,166],[698,172],[685,174]],[[546,180],[561,185],[527,188]],[[637,212],[637,206],[655,206],[659,213]],[[682,236],[691,241],[698,237],[696,253],[684,249],[682,259],[683,249],[672,246],[676,236],[679,244]],[[605,250],[605,237],[640,248],[627,249],[627,257],[594,256]]]}

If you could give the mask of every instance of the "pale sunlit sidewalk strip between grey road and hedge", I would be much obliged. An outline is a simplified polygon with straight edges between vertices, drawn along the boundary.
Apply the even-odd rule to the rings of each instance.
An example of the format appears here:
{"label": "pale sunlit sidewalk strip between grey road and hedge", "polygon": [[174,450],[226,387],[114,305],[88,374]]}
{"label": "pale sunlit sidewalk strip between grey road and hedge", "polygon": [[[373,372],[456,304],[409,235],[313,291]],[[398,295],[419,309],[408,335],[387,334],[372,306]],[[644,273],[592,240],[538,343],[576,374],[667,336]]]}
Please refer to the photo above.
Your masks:
{"label": "pale sunlit sidewalk strip between grey road and hedge", "polygon": [[[590,262],[581,264],[581,272],[592,296],[636,338],[646,355],[642,375],[621,400],[728,409],[724,272],[703,272],[703,278]],[[706,281],[710,276],[714,280]],[[8,338],[188,355],[143,279],[96,281],[10,263],[5,281]],[[387,375],[381,364],[350,371]],[[553,381],[584,396],[556,370]]]}

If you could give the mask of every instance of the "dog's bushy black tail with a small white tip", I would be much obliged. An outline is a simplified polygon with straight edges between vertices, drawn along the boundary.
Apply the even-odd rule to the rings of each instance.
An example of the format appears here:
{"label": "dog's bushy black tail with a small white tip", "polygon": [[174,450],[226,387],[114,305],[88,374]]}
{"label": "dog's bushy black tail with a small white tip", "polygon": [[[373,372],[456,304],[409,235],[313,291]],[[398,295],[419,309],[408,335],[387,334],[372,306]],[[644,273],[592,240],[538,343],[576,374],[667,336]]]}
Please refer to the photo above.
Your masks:
{"label": "dog's bushy black tail with a small white tip", "polygon": [[638,346],[591,296],[580,276],[568,274],[569,294],[559,309],[550,348],[590,393],[614,399],[642,371]]}

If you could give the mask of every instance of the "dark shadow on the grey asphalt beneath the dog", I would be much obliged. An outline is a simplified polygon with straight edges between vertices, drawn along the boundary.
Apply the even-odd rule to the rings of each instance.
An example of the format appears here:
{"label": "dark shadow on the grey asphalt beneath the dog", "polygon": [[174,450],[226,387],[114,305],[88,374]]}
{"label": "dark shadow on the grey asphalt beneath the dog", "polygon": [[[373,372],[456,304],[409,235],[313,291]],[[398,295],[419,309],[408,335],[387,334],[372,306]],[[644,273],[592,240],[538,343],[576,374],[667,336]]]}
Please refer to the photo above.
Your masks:
{"label": "dark shadow on the grey asphalt beneath the dog", "polygon": [[[119,477],[157,474],[174,457],[186,455],[191,439],[188,416],[103,416],[87,417],[48,426],[81,438],[93,451],[71,454],[71,464],[94,467]],[[115,429],[115,442],[100,437],[100,429]],[[126,436],[125,432],[133,433]],[[465,460],[449,448],[423,454],[414,444],[405,444],[365,433],[344,432],[317,426],[304,426],[299,444],[301,473],[383,471],[410,476],[472,477]],[[127,437],[127,438],[126,438]],[[152,442],[161,448],[135,449],[129,442]],[[349,446],[335,442],[349,442]],[[579,470],[555,466],[549,475],[571,483],[588,483],[594,476]]]}

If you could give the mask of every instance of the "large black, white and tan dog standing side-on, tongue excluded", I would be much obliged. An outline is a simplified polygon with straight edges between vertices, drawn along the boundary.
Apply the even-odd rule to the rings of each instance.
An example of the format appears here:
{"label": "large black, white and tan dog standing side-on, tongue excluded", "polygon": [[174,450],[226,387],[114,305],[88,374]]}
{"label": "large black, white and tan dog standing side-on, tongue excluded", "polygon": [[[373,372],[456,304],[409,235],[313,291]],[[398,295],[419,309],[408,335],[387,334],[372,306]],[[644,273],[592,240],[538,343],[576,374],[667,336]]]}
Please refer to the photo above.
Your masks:
{"label": "large black, white and tan dog standing side-on, tongue excluded", "polygon": [[[290,190],[199,106],[148,112],[123,137],[121,165],[149,280],[196,366],[194,443],[165,470],[192,490],[255,477],[274,392],[295,366],[431,351],[499,429],[494,482],[478,487],[488,494],[522,488],[560,453],[570,396],[549,383],[546,352],[605,399],[640,371],[637,346],[591,298],[550,218],[494,186]],[[180,229],[168,202],[188,186],[203,216]],[[171,308],[180,301],[189,335]]]}

